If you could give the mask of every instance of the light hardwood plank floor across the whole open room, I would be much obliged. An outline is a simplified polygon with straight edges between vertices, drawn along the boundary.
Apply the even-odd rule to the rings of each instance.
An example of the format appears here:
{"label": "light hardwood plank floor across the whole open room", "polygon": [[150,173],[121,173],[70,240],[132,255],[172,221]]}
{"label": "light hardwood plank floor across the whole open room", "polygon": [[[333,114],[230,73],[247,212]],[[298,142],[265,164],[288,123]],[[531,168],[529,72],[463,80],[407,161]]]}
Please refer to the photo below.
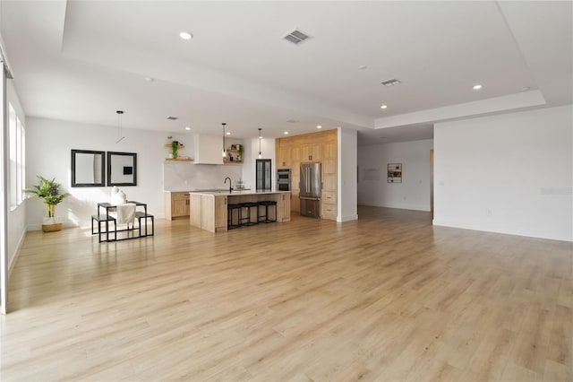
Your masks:
{"label": "light hardwood plank floor across the whole open room", "polygon": [[0,378],[573,380],[573,244],[359,216],[31,232]]}

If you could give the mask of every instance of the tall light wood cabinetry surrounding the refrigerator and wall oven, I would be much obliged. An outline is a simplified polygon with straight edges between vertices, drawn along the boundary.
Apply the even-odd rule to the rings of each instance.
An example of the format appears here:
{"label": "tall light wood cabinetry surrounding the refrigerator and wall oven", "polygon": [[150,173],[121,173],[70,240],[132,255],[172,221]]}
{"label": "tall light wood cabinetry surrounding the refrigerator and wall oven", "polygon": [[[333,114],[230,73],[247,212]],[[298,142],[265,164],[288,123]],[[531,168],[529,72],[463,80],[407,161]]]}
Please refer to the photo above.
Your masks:
{"label": "tall light wood cabinetry surrounding the refrigerator and wall oven", "polygon": [[277,167],[291,169],[291,212],[300,213],[299,171],[301,163],[321,162],[321,217],[337,219],[337,130],[277,139]]}

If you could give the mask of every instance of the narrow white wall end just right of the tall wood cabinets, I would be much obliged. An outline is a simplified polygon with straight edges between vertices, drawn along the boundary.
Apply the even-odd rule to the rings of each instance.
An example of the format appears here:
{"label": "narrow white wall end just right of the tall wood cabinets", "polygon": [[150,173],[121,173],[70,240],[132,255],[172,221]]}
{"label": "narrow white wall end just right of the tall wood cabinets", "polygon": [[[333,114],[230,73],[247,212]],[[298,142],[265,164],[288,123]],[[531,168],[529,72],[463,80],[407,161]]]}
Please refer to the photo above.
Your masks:
{"label": "narrow white wall end just right of the tall wood cabinets", "polygon": [[338,208],[337,221],[358,219],[357,182],[357,138],[355,130],[338,127]]}

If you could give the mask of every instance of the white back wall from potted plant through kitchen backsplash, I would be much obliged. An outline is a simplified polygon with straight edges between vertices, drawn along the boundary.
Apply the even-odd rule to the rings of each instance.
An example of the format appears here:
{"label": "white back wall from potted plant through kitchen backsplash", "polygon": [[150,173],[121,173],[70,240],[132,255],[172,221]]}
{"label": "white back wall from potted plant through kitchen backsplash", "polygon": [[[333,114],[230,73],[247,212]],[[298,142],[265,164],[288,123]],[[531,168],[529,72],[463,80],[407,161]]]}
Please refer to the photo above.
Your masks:
{"label": "white back wall from potted plant through kitchen backsplash", "polygon": [[[193,158],[193,135],[125,128],[123,132],[126,138],[115,143],[117,127],[30,117],[26,130],[27,187],[36,184],[37,175],[56,177],[63,190],[71,194],[62,204],[57,205],[56,214],[62,217],[65,226],[90,227],[90,216],[96,213],[96,204],[109,200],[111,187],[71,187],[72,149],[137,152],[137,186],[120,188],[128,199],[147,203],[148,211],[157,218],[165,216],[164,189],[186,191],[225,188],[226,177],[232,178],[235,185],[243,176],[243,168],[250,166],[246,161],[244,165],[197,165],[192,162],[165,161],[171,152],[170,148],[165,147],[171,141],[168,136],[184,143],[185,148],[178,152],[180,157]],[[226,142],[227,145],[243,143],[229,138]],[[45,212],[43,204],[37,198],[30,198],[25,204],[29,204],[26,213],[28,229],[39,230]]]}

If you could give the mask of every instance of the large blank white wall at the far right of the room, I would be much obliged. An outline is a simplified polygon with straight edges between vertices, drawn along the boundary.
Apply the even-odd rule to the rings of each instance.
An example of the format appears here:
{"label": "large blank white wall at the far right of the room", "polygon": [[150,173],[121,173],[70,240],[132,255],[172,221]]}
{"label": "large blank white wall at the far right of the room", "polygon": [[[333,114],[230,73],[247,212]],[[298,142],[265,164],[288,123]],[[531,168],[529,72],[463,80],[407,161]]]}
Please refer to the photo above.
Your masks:
{"label": "large blank white wall at the far right of the room", "polygon": [[571,106],[434,127],[434,224],[573,241]]}

